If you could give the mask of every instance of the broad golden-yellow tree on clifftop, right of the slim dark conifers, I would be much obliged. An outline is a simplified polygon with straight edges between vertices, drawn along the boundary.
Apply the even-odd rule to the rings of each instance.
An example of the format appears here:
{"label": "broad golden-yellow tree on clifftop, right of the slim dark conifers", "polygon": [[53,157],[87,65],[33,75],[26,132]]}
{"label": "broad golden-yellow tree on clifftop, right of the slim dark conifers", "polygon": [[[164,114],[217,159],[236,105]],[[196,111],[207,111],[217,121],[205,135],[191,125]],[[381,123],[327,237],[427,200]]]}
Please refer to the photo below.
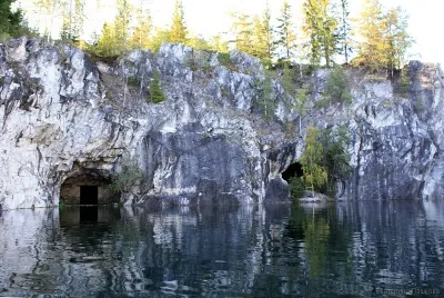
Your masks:
{"label": "broad golden-yellow tree on clifftop, right of the slim dark conifers", "polygon": [[386,22],[379,0],[364,0],[359,21],[359,56],[371,71],[385,68],[389,63],[385,42]]}

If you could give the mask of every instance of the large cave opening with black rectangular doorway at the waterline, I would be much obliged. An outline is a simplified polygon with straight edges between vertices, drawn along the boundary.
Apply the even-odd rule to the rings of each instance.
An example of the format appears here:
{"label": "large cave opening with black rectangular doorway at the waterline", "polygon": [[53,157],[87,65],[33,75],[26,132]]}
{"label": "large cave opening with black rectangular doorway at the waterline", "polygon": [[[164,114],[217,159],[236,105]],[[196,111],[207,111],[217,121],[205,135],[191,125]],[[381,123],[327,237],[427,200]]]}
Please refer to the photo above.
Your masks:
{"label": "large cave opening with black rectangular doorway at the waterline", "polygon": [[95,169],[78,169],[62,183],[60,202],[64,205],[110,205],[120,201],[121,193],[112,187],[112,179]]}

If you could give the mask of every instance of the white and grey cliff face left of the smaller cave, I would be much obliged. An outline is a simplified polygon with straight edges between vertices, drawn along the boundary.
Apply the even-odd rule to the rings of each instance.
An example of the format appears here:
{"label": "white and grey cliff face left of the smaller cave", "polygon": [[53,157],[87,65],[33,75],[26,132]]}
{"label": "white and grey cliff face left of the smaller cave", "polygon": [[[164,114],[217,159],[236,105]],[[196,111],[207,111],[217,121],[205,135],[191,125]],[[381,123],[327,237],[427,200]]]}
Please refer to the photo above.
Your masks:
{"label": "white and grey cliff face left of the smaller cave", "polygon": [[[125,203],[260,202],[296,158],[280,153],[296,148],[280,125],[251,115],[263,70],[240,52],[230,70],[216,54],[173,44],[99,68],[67,44],[22,38],[0,49],[3,209],[57,206],[85,180],[105,187],[124,155],[145,172]],[[168,99],[158,105],[154,72]]]}

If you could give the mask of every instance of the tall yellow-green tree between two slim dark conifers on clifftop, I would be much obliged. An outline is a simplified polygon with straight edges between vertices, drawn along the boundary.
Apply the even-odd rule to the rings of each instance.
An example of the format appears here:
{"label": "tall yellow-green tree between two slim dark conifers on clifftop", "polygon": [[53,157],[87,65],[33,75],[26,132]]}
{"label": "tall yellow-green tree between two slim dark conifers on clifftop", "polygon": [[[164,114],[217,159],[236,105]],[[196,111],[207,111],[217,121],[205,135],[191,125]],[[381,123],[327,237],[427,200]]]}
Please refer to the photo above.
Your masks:
{"label": "tall yellow-green tree between two slim dark conifers on clifftop", "polygon": [[330,0],[306,0],[303,4],[304,27],[309,37],[310,61],[313,66],[321,63],[324,58],[330,67],[332,57],[337,52],[337,21],[332,17]]}

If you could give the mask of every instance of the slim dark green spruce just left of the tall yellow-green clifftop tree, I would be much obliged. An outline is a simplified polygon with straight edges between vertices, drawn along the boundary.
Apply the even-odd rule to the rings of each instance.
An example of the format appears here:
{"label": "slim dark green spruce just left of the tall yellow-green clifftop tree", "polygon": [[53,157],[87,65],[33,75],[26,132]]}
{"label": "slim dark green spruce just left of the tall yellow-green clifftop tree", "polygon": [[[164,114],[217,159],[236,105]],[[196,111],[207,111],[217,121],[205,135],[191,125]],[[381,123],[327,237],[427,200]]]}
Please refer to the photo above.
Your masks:
{"label": "slim dark green spruce just left of the tall yellow-green clifftop tree", "polygon": [[291,60],[296,47],[296,36],[294,33],[294,26],[291,19],[291,6],[285,1],[281,9],[281,17],[278,18],[278,41],[275,44],[284,50],[284,56],[281,58],[286,61]]}

